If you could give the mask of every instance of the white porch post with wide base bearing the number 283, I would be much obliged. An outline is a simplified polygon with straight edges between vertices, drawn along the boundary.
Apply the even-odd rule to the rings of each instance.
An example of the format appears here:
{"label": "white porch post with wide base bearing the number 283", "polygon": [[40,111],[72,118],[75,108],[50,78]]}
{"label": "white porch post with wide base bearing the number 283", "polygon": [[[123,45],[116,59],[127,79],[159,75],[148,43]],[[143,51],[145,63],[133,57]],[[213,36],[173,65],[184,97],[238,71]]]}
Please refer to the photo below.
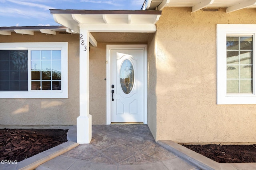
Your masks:
{"label": "white porch post with wide base bearing the number 283", "polygon": [[77,142],[89,144],[92,139],[92,115],[89,115],[89,32],[82,24],[79,37],[80,115],[77,118]]}

